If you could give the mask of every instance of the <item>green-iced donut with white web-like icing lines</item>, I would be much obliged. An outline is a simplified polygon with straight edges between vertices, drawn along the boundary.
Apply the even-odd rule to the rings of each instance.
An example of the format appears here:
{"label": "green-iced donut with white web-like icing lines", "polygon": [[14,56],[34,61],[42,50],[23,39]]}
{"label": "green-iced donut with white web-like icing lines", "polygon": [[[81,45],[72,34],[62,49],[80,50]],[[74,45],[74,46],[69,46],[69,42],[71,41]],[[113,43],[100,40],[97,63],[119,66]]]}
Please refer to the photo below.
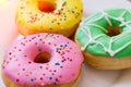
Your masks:
{"label": "green-iced donut with white web-like icing lines", "polygon": [[88,16],[76,30],[75,42],[95,69],[130,69],[131,11],[107,9]]}

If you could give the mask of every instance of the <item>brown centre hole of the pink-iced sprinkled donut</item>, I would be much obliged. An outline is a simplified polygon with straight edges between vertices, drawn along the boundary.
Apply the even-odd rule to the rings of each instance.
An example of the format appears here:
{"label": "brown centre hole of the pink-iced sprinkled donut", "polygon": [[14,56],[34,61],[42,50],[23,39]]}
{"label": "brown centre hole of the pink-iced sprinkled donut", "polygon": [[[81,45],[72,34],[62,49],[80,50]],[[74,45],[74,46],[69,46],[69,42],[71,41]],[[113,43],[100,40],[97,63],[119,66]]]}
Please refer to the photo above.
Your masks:
{"label": "brown centre hole of the pink-iced sprinkled donut", "polygon": [[48,63],[50,61],[50,53],[48,52],[41,52],[39,54],[37,54],[34,59],[35,63]]}

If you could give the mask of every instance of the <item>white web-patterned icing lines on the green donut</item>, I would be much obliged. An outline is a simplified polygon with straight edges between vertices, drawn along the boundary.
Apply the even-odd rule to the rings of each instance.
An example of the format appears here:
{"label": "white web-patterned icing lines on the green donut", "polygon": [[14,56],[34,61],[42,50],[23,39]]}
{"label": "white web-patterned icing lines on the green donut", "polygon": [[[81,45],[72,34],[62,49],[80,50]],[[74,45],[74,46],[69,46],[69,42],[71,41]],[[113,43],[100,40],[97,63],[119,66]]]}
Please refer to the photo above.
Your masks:
{"label": "white web-patterned icing lines on the green donut", "polygon": [[[131,41],[129,41],[128,44],[123,45],[123,46],[120,47],[119,49],[112,50],[112,44],[114,44],[116,40],[122,38],[123,36],[128,35],[128,34],[131,34],[131,26],[129,25],[129,24],[131,24],[131,21],[124,22],[124,17],[123,17],[127,12],[130,12],[130,11],[124,10],[119,17],[114,17],[114,16],[107,14],[106,12],[102,11],[102,16],[99,16],[98,18],[91,20],[91,21],[86,20],[85,23],[86,23],[87,26],[83,26],[83,28],[81,28],[81,30],[88,37],[88,41],[87,41],[86,45],[84,45],[81,49],[82,49],[82,50],[85,50],[88,45],[91,45],[91,44],[96,44],[96,45],[100,45],[100,46],[103,47],[104,51],[106,51],[110,57],[114,57],[114,55],[117,54],[118,52],[120,52],[120,51],[122,51],[123,49],[126,49],[129,45],[131,45]],[[131,12],[130,12],[130,13],[131,13]],[[104,28],[103,26],[93,24],[95,21],[99,21],[99,20],[102,20],[102,18],[104,18],[104,17],[105,17],[105,20],[107,21],[107,23],[109,24],[109,26],[112,26],[112,23],[111,23],[111,21],[110,21],[110,18],[112,18],[112,20],[116,20],[116,21],[118,21],[118,22],[121,22],[121,24],[119,25],[120,27],[127,26],[127,27],[129,28],[127,32],[121,33],[120,35],[110,37],[108,48],[107,48],[104,44],[97,41],[97,39],[100,38],[100,37],[104,37],[105,34],[100,34],[100,35],[97,35],[97,36],[95,36],[95,37],[92,37],[92,34],[91,34],[91,30],[90,30],[90,27],[88,27],[88,26],[95,26],[95,27],[98,27],[99,29],[104,30],[105,33],[107,33],[107,29]],[[87,32],[86,32],[85,29],[86,29]]]}

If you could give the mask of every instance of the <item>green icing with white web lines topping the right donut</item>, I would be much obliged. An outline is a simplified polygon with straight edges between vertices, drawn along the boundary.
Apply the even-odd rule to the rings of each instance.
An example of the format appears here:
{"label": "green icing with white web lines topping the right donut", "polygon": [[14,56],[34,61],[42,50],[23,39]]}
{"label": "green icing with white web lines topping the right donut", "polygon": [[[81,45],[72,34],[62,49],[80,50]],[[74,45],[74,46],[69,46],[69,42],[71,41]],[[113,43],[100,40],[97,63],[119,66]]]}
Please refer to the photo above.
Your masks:
{"label": "green icing with white web lines topping the right donut", "polygon": [[[86,18],[78,32],[81,49],[95,55],[131,57],[131,11],[111,9]],[[119,26],[122,33],[108,36],[108,26]]]}

